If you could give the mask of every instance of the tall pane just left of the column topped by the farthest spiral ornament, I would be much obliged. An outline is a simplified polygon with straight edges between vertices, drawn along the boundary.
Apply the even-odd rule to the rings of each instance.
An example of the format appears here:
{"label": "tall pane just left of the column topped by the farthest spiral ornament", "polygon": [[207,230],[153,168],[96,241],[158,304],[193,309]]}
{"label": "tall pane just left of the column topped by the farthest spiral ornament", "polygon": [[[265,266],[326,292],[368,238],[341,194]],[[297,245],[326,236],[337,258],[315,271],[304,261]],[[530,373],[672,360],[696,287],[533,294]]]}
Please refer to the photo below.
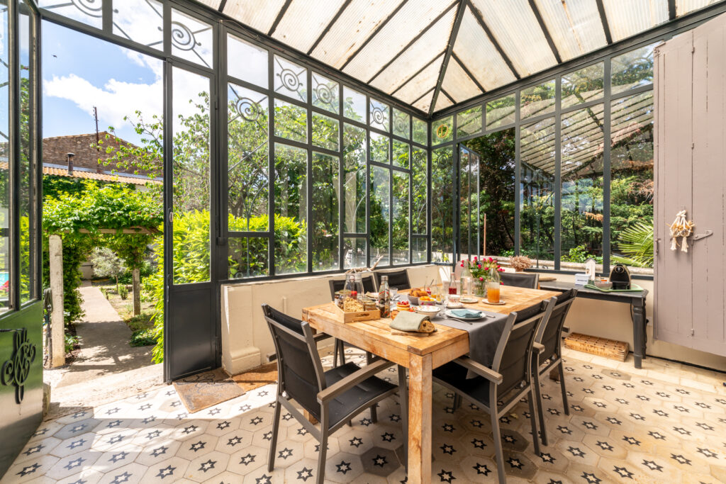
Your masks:
{"label": "tall pane just left of the column topped by the farthest spiral ornament", "polygon": [[[366,194],[366,130],[351,124],[343,124],[343,224],[349,234],[365,233]],[[365,250],[363,251],[365,254]]]}

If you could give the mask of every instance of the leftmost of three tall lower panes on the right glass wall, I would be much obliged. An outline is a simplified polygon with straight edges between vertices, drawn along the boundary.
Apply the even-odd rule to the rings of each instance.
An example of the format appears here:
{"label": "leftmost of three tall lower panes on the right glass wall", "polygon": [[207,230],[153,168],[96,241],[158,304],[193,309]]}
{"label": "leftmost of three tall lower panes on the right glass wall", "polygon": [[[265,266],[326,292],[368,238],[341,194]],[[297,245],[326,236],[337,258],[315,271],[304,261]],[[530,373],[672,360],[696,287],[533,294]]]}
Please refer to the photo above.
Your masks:
{"label": "leftmost of three tall lower panes on the right glass wall", "polygon": [[555,118],[522,126],[520,136],[520,253],[541,267],[555,258]]}

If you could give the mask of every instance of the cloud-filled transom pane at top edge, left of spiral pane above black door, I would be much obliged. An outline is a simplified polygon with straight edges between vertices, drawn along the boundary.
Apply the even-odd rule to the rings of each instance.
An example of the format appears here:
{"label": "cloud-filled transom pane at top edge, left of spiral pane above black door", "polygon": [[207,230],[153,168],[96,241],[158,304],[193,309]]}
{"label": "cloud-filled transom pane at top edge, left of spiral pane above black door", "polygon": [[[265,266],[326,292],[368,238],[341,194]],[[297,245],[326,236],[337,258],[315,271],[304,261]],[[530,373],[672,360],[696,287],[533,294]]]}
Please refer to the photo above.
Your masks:
{"label": "cloud-filled transom pane at top edge, left of spiral pane above black door", "polygon": [[157,0],[124,0],[113,5],[113,33],[159,50],[164,46],[162,20],[163,5]]}

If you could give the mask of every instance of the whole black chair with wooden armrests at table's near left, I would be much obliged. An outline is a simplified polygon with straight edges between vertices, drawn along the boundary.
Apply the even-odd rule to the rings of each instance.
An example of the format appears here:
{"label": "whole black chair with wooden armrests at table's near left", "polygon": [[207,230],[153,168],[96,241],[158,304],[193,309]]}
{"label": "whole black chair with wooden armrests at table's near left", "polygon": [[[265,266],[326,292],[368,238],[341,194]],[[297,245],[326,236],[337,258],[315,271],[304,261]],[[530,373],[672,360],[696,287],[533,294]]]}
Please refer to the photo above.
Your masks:
{"label": "whole black chair with wooden armrests at table's near left", "polygon": [[[380,358],[360,368],[354,363],[344,364],[323,371],[317,351],[317,340],[328,335],[313,335],[307,322],[287,316],[263,304],[265,319],[275,350],[277,350],[277,401],[274,406],[272,439],[267,461],[267,469],[274,469],[277,451],[277,430],[280,427],[281,407],[285,407],[308,432],[320,443],[316,482],[322,483],[325,475],[325,456],[328,435],[343,427],[351,418],[365,409],[387,398],[399,387],[380,380],[375,374],[393,366],[393,363]],[[401,385],[401,412],[404,415],[404,435],[408,435],[408,408],[405,369],[399,379]],[[320,422],[318,429],[301,414],[290,400],[297,402]]]}

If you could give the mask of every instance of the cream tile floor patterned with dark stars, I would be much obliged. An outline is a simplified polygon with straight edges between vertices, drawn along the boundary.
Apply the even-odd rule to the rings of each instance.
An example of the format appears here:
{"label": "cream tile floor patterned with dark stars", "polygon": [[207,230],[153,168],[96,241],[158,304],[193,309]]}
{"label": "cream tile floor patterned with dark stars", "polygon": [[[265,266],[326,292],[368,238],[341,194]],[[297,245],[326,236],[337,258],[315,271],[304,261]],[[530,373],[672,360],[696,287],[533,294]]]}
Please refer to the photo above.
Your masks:
{"label": "cream tile floor patterned with dark stars", "polygon": [[[583,353],[566,359],[570,415],[558,384],[543,382],[542,455],[532,451],[526,403],[502,417],[508,482],[726,482],[725,375],[655,358],[643,370]],[[381,376],[395,382],[391,370]],[[268,385],[188,415],[165,387],[46,421],[1,483],[314,482],[317,441],[285,411],[267,472],[274,393]],[[436,385],[433,407],[431,482],[494,482],[488,415],[466,402],[452,411],[452,395]],[[384,401],[378,416],[333,434],[327,481],[404,481],[399,403]]]}

